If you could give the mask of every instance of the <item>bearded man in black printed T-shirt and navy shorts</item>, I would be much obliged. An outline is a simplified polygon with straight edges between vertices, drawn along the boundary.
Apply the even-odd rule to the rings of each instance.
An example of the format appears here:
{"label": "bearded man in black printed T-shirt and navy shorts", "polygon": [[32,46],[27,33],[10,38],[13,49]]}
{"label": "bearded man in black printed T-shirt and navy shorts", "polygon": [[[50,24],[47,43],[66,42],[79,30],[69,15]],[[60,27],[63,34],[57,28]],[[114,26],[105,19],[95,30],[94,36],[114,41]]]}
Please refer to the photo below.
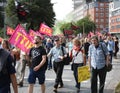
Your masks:
{"label": "bearded man in black printed T-shirt and navy shorts", "polygon": [[28,93],[33,93],[33,87],[38,78],[41,85],[41,93],[45,93],[45,71],[46,71],[46,50],[42,46],[40,36],[34,37],[35,46],[30,49],[29,58],[31,59],[31,68],[28,77]]}

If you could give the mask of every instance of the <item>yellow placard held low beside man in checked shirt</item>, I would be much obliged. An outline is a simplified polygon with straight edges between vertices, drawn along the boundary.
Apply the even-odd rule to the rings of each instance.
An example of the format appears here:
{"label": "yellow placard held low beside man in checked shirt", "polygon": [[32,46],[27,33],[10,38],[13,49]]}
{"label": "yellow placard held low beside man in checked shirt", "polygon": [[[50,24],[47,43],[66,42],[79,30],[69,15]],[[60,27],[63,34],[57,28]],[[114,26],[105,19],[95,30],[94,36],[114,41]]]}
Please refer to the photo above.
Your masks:
{"label": "yellow placard held low beside man in checked shirt", "polygon": [[90,78],[89,66],[78,67],[78,82],[85,81]]}

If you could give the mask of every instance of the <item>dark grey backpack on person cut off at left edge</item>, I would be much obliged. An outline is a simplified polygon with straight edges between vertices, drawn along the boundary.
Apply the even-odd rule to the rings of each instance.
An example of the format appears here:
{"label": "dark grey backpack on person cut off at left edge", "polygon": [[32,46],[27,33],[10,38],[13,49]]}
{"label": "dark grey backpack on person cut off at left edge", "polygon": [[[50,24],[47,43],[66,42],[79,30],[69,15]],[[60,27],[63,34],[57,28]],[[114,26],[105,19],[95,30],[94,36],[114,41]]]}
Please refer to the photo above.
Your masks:
{"label": "dark grey backpack on person cut off at left edge", "polygon": [[6,68],[6,64],[7,64],[7,58],[10,55],[9,52],[7,52],[4,49],[0,49],[0,74],[7,74],[7,68]]}

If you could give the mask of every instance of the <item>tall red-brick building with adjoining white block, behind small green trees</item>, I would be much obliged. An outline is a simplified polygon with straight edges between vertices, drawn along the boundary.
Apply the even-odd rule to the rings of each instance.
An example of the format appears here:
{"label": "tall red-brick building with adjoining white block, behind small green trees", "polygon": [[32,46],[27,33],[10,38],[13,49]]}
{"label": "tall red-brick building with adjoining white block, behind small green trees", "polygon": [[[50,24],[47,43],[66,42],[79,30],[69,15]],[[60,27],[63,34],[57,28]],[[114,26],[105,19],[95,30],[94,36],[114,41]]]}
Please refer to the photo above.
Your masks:
{"label": "tall red-brick building with adjoining white block, behind small green trees", "polygon": [[87,15],[96,24],[96,31],[103,31],[109,28],[109,2],[108,0],[92,0],[92,2],[81,2],[73,11],[74,21],[80,20]]}

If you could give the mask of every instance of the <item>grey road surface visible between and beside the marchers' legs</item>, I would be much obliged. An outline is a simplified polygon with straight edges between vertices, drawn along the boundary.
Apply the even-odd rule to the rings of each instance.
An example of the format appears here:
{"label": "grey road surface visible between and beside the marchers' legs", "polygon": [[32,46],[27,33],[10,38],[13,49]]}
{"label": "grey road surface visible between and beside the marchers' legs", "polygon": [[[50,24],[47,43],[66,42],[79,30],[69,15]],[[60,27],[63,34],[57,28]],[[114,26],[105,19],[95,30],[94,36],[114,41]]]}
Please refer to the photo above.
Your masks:
{"label": "grey road surface visible between and beside the marchers' legs", "polygon": [[[27,93],[28,82],[28,68],[26,69],[26,75],[24,80],[24,87],[19,88],[18,93]],[[104,93],[114,93],[116,85],[120,82],[120,57],[118,59],[113,58],[113,69],[111,72],[107,73],[105,91]],[[54,85],[55,73],[53,70],[47,70],[46,72],[46,93],[54,93],[53,85]],[[65,66],[63,72],[63,81],[64,88],[58,89],[58,93],[76,93],[75,80],[73,78],[73,73],[70,70],[70,65]],[[33,93],[41,93],[40,86],[36,82]],[[13,93],[13,91],[11,92]],[[81,83],[81,91],[80,93],[90,93],[90,80],[84,81]]]}

